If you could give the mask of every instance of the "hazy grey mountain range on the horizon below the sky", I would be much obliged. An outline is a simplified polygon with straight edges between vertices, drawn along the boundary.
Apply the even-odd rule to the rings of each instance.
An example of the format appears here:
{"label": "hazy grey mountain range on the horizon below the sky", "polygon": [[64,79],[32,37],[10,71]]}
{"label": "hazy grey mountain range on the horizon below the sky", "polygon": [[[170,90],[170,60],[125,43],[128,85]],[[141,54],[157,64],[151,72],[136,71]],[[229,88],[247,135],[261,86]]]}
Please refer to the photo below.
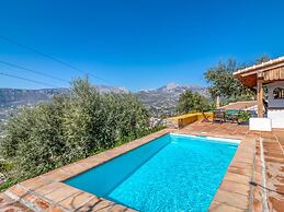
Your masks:
{"label": "hazy grey mountain range on the horizon below the sky", "polygon": [[[124,87],[114,87],[107,85],[94,85],[100,93],[129,93]],[[141,90],[133,94],[141,101],[151,113],[151,116],[169,116],[174,113],[179,96],[185,91],[192,90],[204,96],[208,96],[206,87],[195,85],[179,85],[169,83],[164,86]],[[41,102],[50,99],[56,94],[66,94],[69,89],[41,89],[41,90],[19,90],[19,89],[0,89],[0,115],[8,108],[16,108],[22,105],[35,105]]]}

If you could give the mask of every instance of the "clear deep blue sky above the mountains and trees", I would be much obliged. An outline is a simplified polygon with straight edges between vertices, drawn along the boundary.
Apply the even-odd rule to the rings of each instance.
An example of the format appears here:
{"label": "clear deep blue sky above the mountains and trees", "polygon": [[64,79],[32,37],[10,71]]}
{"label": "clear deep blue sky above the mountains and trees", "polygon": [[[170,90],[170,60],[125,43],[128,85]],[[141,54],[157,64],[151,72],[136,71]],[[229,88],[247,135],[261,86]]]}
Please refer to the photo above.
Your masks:
{"label": "clear deep blue sky above the mountains and trees", "polygon": [[[219,60],[284,55],[283,11],[281,0],[0,0],[0,35],[132,91],[206,85],[204,71]],[[83,75],[1,38],[0,60],[66,81]],[[1,63],[0,72],[68,86]],[[46,85],[0,75],[0,87]]]}

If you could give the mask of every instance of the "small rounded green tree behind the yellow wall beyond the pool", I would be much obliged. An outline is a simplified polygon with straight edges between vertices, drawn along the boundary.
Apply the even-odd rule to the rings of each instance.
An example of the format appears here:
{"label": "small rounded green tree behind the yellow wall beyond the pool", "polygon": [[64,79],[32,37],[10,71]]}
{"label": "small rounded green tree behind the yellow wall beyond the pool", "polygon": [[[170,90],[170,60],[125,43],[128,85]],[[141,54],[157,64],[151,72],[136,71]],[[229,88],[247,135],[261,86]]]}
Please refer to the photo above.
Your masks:
{"label": "small rounded green tree behind the yellow wall beyond the pool", "polygon": [[206,111],[209,109],[208,99],[198,94],[197,92],[192,92],[186,90],[180,95],[179,103],[177,106],[177,111],[180,114],[188,114],[190,111]]}

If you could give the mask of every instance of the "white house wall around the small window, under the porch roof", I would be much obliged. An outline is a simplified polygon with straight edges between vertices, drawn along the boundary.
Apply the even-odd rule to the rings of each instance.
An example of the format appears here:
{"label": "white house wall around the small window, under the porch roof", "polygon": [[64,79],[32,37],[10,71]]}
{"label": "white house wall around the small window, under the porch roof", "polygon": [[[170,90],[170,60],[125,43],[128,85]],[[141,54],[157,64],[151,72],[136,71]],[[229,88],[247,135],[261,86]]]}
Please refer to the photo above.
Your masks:
{"label": "white house wall around the small window, under the porch roof", "polygon": [[268,117],[272,120],[272,128],[284,128],[284,99],[274,99],[273,90],[276,87],[284,89],[284,82],[274,82],[268,84],[269,110]]}

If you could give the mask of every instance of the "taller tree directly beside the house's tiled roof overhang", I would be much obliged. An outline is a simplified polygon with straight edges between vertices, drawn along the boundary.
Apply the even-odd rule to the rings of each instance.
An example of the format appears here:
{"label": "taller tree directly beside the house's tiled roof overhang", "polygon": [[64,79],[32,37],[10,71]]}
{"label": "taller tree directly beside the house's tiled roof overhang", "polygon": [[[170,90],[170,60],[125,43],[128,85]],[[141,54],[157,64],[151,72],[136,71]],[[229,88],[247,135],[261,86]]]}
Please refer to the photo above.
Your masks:
{"label": "taller tree directly beside the house's tiled roof overhang", "polygon": [[229,102],[254,98],[254,93],[250,89],[245,87],[232,75],[232,72],[240,68],[237,66],[236,60],[229,59],[227,62],[219,62],[216,67],[208,69],[204,73],[209,84],[208,92],[214,99],[217,96],[226,98]]}

